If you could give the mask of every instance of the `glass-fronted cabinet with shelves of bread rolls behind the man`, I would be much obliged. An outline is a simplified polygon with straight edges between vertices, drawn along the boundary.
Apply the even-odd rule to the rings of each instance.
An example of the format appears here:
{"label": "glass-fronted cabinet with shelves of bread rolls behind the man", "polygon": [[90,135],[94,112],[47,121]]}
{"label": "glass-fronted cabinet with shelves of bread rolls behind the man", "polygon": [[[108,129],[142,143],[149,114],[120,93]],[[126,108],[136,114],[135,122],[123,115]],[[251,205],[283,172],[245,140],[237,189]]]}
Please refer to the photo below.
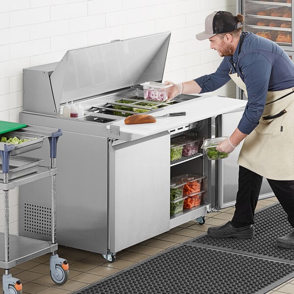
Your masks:
{"label": "glass-fronted cabinet with shelves of bread rolls behind the man", "polygon": [[245,31],[268,38],[287,51],[294,51],[292,10],[292,0],[242,0],[238,8],[245,16]]}

